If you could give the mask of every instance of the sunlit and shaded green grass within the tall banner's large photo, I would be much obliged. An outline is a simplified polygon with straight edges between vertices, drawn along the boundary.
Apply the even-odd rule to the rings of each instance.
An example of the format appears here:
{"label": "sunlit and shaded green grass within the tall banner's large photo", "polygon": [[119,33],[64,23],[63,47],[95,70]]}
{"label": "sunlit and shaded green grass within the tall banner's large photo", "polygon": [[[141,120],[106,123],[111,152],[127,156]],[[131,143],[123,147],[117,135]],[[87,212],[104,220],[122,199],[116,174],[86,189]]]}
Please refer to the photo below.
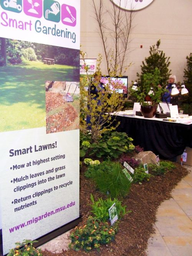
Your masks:
{"label": "sunlit and shaded green grass within the tall banner's large photo", "polygon": [[0,132],[46,126],[45,81],[73,81],[73,72],[37,61],[0,66]]}

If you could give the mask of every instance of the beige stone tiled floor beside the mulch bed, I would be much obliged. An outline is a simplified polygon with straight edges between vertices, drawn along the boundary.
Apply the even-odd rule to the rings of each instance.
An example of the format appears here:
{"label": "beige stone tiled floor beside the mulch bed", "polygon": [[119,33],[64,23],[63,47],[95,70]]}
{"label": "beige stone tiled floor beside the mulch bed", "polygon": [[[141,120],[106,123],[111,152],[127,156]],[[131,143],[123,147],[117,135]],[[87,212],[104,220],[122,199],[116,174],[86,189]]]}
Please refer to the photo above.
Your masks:
{"label": "beige stone tiled floor beside the mulch bed", "polygon": [[192,256],[192,166],[189,175],[158,208],[147,256]]}

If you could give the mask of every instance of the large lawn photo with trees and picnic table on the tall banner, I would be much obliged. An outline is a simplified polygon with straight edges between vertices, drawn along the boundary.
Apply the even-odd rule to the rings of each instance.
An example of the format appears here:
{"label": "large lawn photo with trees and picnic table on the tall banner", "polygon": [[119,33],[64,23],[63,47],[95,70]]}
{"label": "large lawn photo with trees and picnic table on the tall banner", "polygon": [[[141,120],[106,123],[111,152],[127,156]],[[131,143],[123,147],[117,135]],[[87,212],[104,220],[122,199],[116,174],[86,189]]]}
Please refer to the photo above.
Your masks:
{"label": "large lawn photo with trees and picnic table on the tall banner", "polygon": [[79,50],[0,37],[0,132],[46,126],[46,81],[79,81]]}

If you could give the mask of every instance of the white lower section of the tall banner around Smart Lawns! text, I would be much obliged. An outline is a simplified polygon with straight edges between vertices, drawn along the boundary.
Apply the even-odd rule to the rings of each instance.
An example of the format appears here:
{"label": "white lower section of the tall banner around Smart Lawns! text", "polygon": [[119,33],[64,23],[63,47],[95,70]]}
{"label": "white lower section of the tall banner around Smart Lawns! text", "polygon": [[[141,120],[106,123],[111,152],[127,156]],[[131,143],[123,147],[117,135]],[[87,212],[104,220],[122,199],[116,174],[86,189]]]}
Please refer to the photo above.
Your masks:
{"label": "white lower section of the tall banner around Smart Lawns! text", "polygon": [[[16,241],[36,239],[79,217],[79,130],[51,134],[46,134],[45,128],[12,131],[0,133],[0,140],[3,145],[0,148],[2,159],[0,187],[3,192],[1,206],[3,254],[5,254],[8,253],[10,248],[14,247]],[[55,141],[57,141],[56,148],[35,152],[35,145],[36,150],[38,150],[40,145],[52,144]],[[10,156],[11,149],[15,151],[30,148],[30,146],[32,153]],[[51,157],[57,155],[65,155],[65,159],[61,158],[51,161]],[[48,158],[50,158],[48,162],[33,165],[33,161]],[[27,163],[30,162],[31,166],[26,167]],[[13,170],[13,166],[22,164],[25,164],[24,168]],[[65,166],[65,169],[56,172],[55,168],[61,166]],[[46,173],[46,170],[51,170],[52,168],[54,170],[53,173],[30,178],[30,174]],[[63,173],[65,173],[64,177],[56,179],[56,175]],[[11,182],[14,178],[20,179],[26,175],[28,176],[27,180]],[[55,180],[48,181],[49,177],[55,177]],[[46,179],[46,183],[38,185],[38,180],[42,179]],[[59,188],[60,185],[69,181],[72,181],[71,185]],[[36,186],[33,188],[26,188],[24,191],[13,191],[14,189],[17,190],[17,187],[34,182],[36,182]],[[54,186],[58,186],[58,189],[54,190]],[[43,191],[44,189],[48,190],[49,188],[52,188],[50,193],[33,198],[35,192]],[[14,203],[14,199],[21,200],[21,198],[26,196],[31,196],[31,199]],[[32,201],[36,201],[36,204],[15,212],[15,208]],[[67,206],[71,201],[75,202],[74,206],[43,218],[37,223],[26,224],[28,220],[41,216],[46,212],[55,211],[55,209],[61,206]],[[18,230],[14,228],[14,231],[10,233],[11,228],[22,223],[25,223],[23,228],[19,227]]]}

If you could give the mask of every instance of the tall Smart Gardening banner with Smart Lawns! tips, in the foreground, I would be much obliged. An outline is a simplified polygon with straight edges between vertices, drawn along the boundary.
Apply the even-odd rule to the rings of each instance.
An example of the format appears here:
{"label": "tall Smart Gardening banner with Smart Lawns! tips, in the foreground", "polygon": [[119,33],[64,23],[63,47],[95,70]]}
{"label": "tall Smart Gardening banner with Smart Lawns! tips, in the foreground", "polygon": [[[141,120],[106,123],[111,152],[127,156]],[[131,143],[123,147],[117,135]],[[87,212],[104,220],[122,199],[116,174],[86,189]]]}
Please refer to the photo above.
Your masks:
{"label": "tall Smart Gardening banner with Smart Lawns! tips, in the foreground", "polygon": [[79,218],[79,0],[0,0],[0,254]]}

